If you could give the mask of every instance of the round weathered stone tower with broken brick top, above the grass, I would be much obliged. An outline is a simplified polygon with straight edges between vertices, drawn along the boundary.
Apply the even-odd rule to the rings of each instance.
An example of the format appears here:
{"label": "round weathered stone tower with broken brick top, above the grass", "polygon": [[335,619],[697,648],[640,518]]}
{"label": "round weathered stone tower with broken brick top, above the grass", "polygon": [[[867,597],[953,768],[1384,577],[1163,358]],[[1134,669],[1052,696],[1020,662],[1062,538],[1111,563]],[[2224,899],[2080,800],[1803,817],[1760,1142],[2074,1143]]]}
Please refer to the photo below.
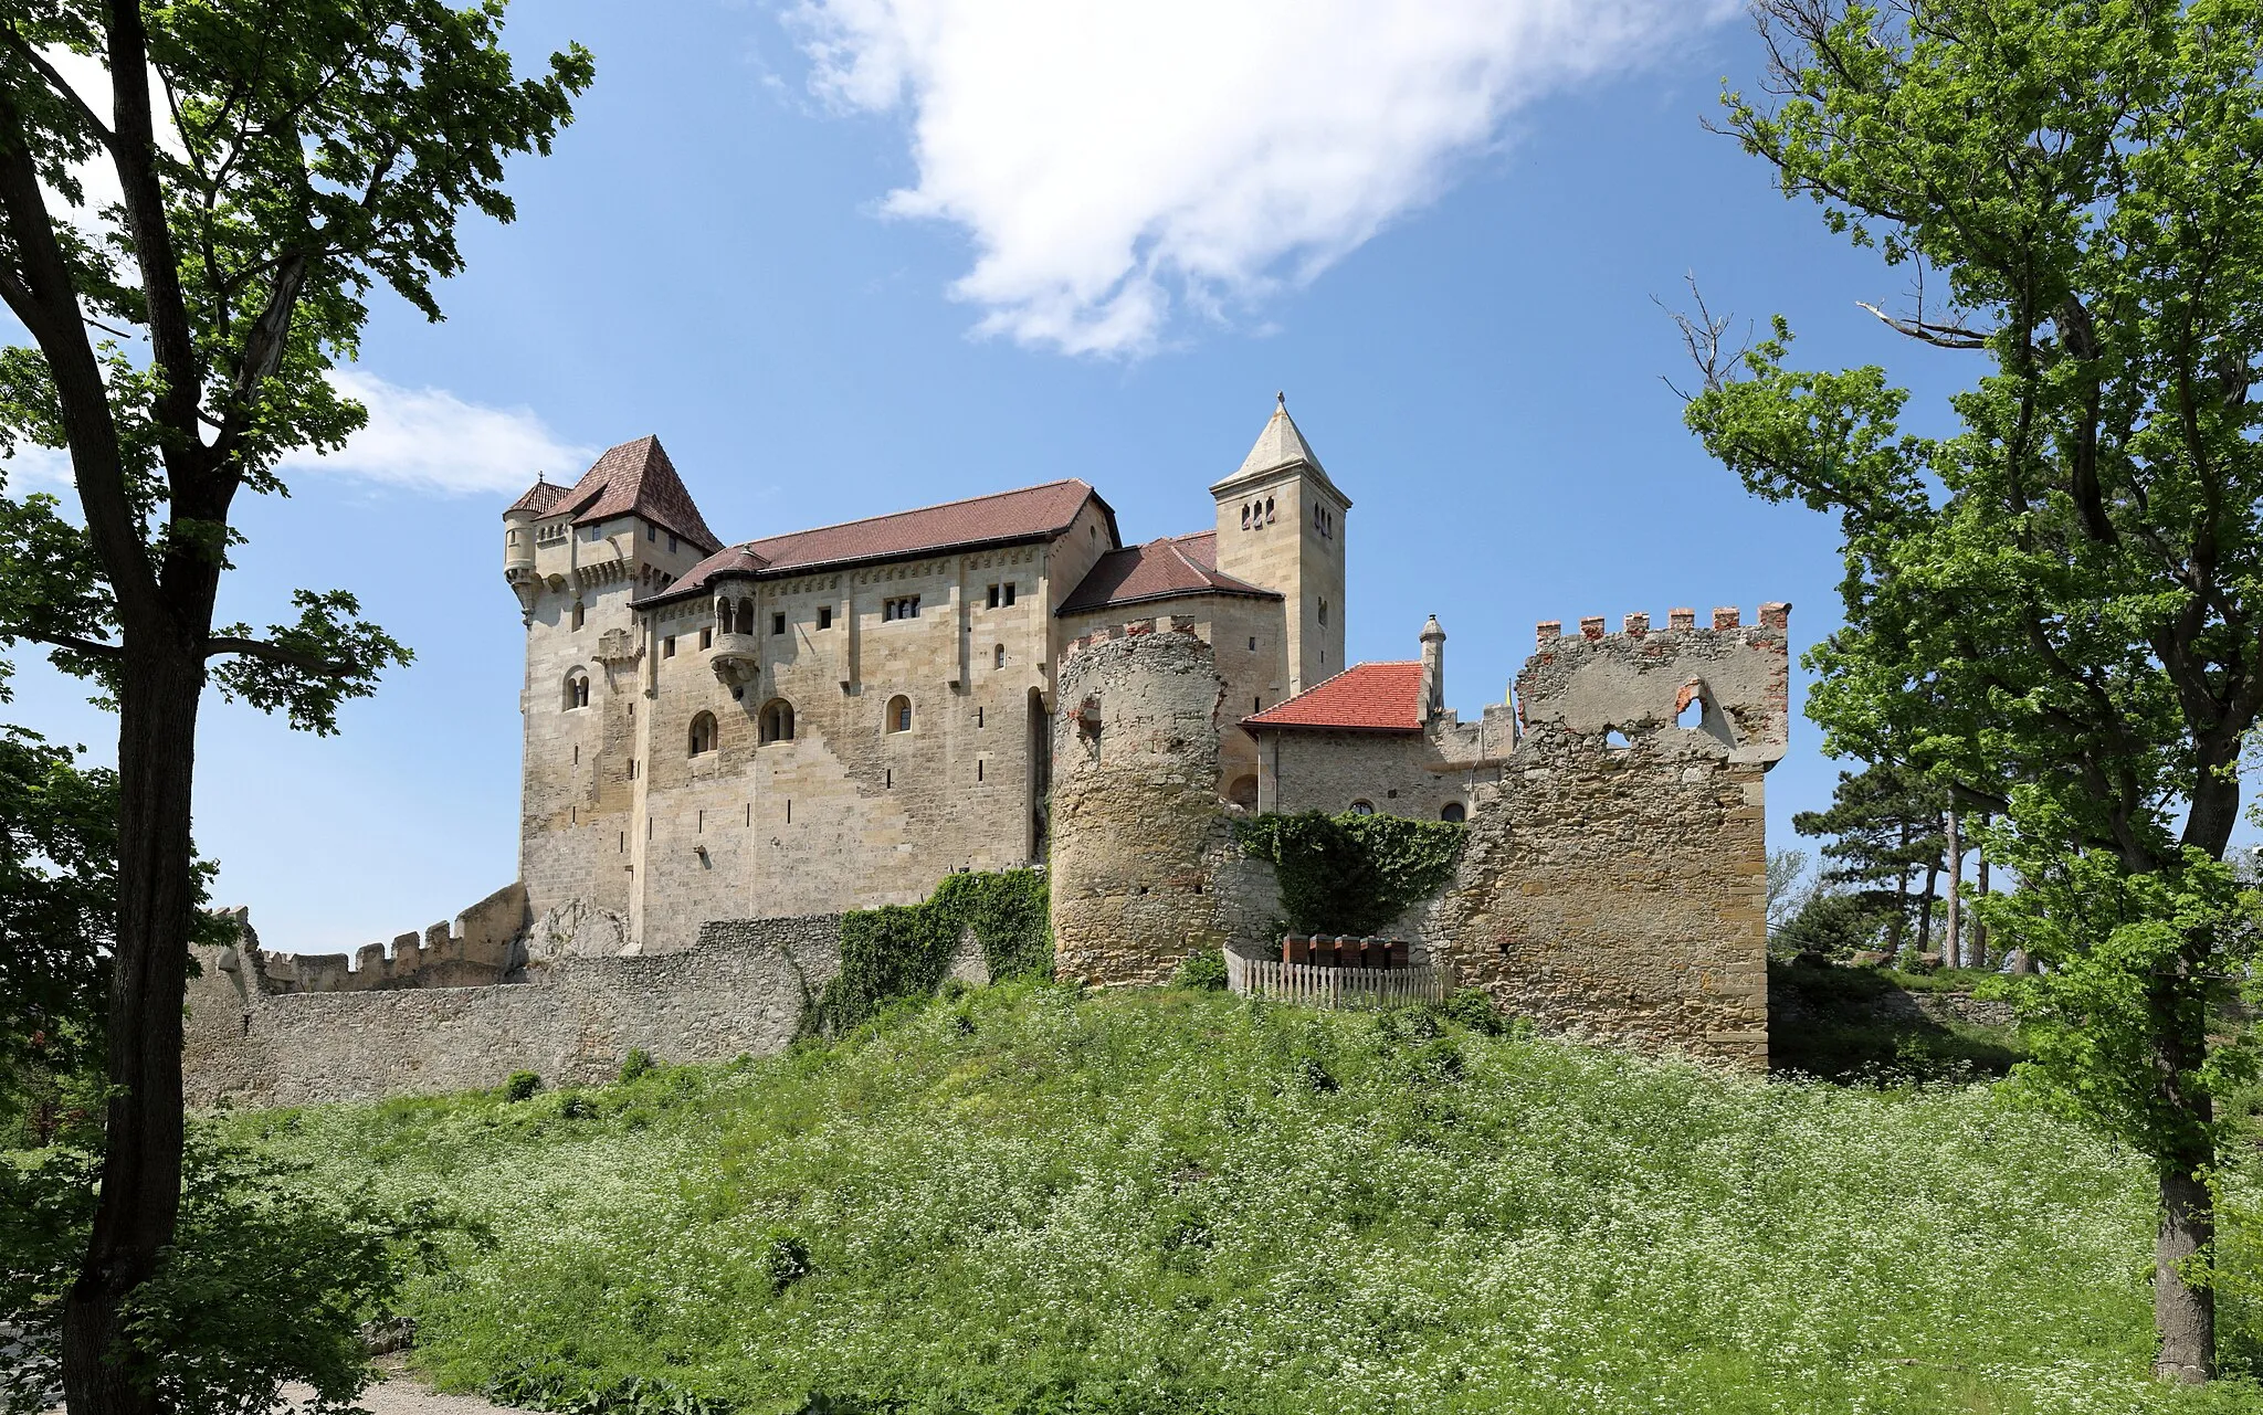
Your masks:
{"label": "round weathered stone tower with broken brick top, above the grass", "polygon": [[1136,620],[1061,661],[1052,745],[1052,946],[1064,978],[1159,983],[1229,942],[1217,657],[1190,618]]}

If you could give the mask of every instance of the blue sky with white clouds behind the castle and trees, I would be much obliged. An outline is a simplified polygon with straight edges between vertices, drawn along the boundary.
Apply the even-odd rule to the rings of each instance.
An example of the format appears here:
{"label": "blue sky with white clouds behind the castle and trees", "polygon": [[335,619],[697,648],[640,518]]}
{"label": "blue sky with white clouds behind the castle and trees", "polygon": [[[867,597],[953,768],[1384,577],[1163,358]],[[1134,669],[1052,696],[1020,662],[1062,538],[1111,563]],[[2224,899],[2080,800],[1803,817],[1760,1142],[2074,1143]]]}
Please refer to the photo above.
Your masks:
{"label": "blue sky with white clouds behind the castle and trees", "polygon": [[[1756,77],[1747,23],[1389,9],[1007,5],[1043,23],[1000,32],[975,0],[523,0],[523,61],[579,38],[597,84],[554,156],[514,165],[518,222],[466,226],[448,321],[378,303],[351,371],[373,435],[242,509],[222,611],[353,589],[416,663],[328,740],[206,706],[217,899],[326,951],[514,876],[498,514],[645,432],[726,539],[1061,475],[1150,539],[1208,523],[1204,487],[1285,389],[1356,503],[1351,657],[1412,657],[1437,614],[1464,715],[1543,618],[1790,600],[1795,648],[1829,632],[1833,523],[1754,503],[1684,432],[1652,299],[1695,272],[1740,321],[1781,310],[1801,360],[1885,362],[1917,419],[1976,369],[1856,308],[1903,274],[1700,127]],[[109,720],[29,661],[7,713],[109,754]],[[1835,770],[1795,711],[1774,844]]]}

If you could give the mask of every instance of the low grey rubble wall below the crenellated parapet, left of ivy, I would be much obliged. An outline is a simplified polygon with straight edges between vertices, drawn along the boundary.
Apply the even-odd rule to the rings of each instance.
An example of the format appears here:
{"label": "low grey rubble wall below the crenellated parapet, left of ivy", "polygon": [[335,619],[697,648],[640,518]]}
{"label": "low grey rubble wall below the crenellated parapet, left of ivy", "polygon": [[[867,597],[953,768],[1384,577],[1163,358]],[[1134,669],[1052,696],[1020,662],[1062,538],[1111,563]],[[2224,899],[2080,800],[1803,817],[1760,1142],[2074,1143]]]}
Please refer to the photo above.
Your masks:
{"label": "low grey rubble wall below the crenellated parapet, left of ivy", "polygon": [[781,1050],[840,971],[840,917],[720,921],[683,953],[563,958],[489,987],[267,994],[249,933],[197,953],[190,1105],[312,1105],[498,1087],[511,1071],[602,1082],[631,1048],[665,1062]]}

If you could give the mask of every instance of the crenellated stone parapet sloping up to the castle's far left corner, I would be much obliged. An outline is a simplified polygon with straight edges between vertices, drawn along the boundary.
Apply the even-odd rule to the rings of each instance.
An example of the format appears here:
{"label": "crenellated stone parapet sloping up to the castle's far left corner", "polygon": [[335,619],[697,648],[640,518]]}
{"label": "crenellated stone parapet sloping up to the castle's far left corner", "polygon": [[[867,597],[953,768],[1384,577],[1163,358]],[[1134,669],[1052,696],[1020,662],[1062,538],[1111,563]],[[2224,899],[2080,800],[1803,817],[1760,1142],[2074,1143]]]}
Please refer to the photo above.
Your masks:
{"label": "crenellated stone parapet sloping up to the castle's far left corner", "polygon": [[247,989],[376,992],[382,987],[477,987],[500,983],[516,967],[518,937],[527,926],[527,890],[509,883],[421,935],[403,933],[391,946],[362,944],[346,953],[267,953],[251,933],[249,910],[224,910],[240,928],[240,944],[220,967],[244,967]]}

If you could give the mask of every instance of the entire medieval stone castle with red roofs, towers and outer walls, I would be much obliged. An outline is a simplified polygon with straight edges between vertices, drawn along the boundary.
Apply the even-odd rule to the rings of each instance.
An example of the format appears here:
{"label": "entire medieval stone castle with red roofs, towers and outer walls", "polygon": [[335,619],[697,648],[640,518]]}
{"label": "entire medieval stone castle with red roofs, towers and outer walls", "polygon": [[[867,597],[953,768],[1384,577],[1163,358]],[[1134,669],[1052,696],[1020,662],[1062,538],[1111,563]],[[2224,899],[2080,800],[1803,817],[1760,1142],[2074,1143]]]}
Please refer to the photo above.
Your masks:
{"label": "entire medieval stone castle with red roofs, towers and outer walls", "polygon": [[837,917],[1046,865],[1057,969],[1168,978],[1272,946],[1229,820],[1466,820],[1399,921],[1546,1028],[1767,1053],[1763,774],[1788,607],[1539,625],[1514,702],[1417,659],[1344,663],[1351,498],[1279,401],[1213,525],[1125,546],[1082,480],[724,543],[659,439],[502,516],[525,623],[518,881],[344,955],[210,951],[192,1100],[602,1078],[772,1050],[837,971]]}

